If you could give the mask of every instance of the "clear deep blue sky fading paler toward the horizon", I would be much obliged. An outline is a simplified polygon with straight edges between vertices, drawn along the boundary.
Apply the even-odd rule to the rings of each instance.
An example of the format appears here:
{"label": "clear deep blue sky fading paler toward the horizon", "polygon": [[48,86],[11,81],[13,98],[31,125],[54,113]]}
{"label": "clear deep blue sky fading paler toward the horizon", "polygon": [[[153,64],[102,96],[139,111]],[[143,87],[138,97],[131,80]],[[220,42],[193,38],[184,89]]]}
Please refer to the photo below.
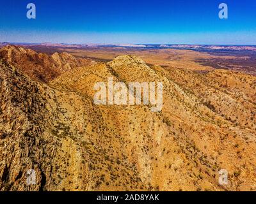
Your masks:
{"label": "clear deep blue sky fading paler toward the horizon", "polygon": [[[36,19],[26,5],[36,4]],[[228,4],[228,19],[218,5]],[[0,41],[255,44],[255,0],[7,0]]]}

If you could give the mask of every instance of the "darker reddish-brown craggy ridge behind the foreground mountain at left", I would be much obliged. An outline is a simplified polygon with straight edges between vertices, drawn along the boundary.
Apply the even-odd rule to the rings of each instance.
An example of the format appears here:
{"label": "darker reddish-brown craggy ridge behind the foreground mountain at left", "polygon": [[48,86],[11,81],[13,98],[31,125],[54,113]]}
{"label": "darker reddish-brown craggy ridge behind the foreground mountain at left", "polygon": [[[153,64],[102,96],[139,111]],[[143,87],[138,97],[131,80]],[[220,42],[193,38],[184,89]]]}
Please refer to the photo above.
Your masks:
{"label": "darker reddish-brown craggy ridge behind the foreground mountain at left", "polygon": [[64,71],[93,63],[90,59],[76,58],[68,53],[55,53],[49,56],[14,45],[1,48],[0,58],[21,69],[34,80],[41,82],[49,82]]}

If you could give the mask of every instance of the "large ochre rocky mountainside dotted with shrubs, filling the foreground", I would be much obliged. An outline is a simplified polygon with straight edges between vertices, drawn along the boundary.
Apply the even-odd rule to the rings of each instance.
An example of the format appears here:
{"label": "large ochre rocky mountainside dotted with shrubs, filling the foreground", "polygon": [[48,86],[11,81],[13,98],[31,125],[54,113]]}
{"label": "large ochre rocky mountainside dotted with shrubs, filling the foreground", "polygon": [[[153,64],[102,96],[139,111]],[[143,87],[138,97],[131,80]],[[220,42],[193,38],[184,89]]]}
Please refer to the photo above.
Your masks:
{"label": "large ochre rocky mountainside dotted with shrubs, filling the foreground", "polygon": [[[52,59],[59,66],[76,61],[67,54]],[[93,86],[109,77],[163,82],[163,110],[95,105]],[[42,84],[1,62],[0,189],[252,190],[255,83],[241,73],[201,75],[125,55]],[[29,169],[36,185],[26,183]],[[221,169],[229,173],[226,186],[218,182]]]}

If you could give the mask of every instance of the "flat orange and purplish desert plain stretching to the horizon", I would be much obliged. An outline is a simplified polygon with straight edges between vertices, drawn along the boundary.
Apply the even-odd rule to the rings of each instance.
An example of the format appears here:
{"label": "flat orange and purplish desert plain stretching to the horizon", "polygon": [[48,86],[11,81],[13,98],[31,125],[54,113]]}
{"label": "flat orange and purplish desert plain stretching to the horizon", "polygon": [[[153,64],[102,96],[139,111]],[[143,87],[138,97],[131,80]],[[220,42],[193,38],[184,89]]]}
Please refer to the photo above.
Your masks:
{"label": "flat orange and purplish desert plain stretching to the horizon", "polygon": [[[24,45],[27,48],[54,54],[68,52],[76,57],[108,62],[119,55],[136,55],[148,65],[186,68],[198,72],[229,69],[256,75],[256,47],[209,45]],[[1,47],[1,45],[0,45]]]}

